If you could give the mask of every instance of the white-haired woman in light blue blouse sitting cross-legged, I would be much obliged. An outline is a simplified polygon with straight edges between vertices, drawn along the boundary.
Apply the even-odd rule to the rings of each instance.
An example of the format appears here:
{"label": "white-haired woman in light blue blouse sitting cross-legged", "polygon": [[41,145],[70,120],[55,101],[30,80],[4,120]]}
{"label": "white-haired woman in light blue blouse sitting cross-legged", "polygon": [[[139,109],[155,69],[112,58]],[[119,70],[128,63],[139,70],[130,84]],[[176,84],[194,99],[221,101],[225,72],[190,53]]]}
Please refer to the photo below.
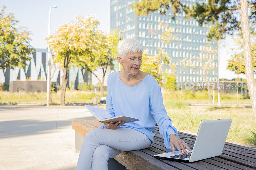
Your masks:
{"label": "white-haired woman in light blue blouse sitting cross-legged", "polygon": [[140,121],[104,123],[100,129],[86,134],[76,169],[108,169],[108,159],[122,151],[140,150],[153,143],[155,122],[169,151],[175,147],[186,154],[188,144],[178,137],[163,104],[160,86],[147,73],[140,71],[142,44],[134,39],[124,39],[117,46],[117,60],[122,71],[108,76],[106,110],[111,116],[126,115]]}

